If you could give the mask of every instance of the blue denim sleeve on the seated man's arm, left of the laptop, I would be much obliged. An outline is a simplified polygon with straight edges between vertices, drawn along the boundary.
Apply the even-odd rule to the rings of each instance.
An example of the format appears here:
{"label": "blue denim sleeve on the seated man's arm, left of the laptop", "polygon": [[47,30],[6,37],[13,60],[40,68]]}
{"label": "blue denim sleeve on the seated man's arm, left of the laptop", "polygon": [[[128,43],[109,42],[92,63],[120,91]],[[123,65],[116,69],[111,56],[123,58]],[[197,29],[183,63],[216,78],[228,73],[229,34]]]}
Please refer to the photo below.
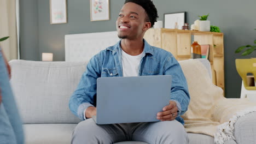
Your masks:
{"label": "blue denim sleeve on the seated man's arm, left of the laptop", "polygon": [[96,106],[97,78],[101,76],[101,62],[98,55],[92,57],[82,78],[69,99],[69,109],[82,121],[84,111],[89,106]]}

